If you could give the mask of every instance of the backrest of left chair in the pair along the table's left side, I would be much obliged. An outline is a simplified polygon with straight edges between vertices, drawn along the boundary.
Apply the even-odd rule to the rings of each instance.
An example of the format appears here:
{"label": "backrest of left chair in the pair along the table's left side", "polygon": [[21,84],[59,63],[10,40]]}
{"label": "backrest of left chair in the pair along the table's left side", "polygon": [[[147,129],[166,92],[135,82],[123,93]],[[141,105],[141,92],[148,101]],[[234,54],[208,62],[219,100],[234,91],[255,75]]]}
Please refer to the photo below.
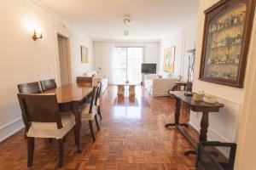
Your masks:
{"label": "backrest of left chair in the pair along the table's left side", "polygon": [[42,93],[39,82],[28,82],[24,84],[18,84],[17,87],[18,87],[19,93],[23,93],[23,94]]}

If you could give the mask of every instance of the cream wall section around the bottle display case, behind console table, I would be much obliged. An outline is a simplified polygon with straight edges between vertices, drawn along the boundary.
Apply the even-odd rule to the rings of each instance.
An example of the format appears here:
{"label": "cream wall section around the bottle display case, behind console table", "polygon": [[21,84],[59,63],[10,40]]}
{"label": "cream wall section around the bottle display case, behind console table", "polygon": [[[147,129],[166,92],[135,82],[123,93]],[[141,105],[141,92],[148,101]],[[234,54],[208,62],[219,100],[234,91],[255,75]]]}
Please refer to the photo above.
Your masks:
{"label": "cream wall section around the bottle display case, behind console table", "polygon": [[[247,88],[247,76],[245,79],[245,88],[231,88],[228,86],[218,85],[211,82],[202,82],[198,79],[201,63],[201,45],[203,37],[203,26],[204,26],[204,13],[203,11],[211,7],[218,0],[204,1],[200,3],[200,14],[198,22],[198,37],[196,41],[196,54],[195,54],[195,75],[193,90],[204,89],[207,94],[213,94],[218,97],[218,101],[223,103],[224,109],[221,109],[218,113],[210,113],[209,116],[209,128],[208,128],[208,139],[235,142],[237,136],[238,122],[241,120],[240,111],[241,105],[244,101],[245,89]],[[255,25],[255,21],[254,21]],[[252,36],[252,40],[255,39],[255,35]],[[249,54],[247,56],[247,63],[250,64],[250,59],[253,57],[252,50],[253,45],[251,44]],[[248,69],[248,67],[247,67]],[[248,74],[247,71],[246,75]],[[242,116],[242,115],[241,115]],[[190,124],[200,129],[201,113],[190,114]]]}

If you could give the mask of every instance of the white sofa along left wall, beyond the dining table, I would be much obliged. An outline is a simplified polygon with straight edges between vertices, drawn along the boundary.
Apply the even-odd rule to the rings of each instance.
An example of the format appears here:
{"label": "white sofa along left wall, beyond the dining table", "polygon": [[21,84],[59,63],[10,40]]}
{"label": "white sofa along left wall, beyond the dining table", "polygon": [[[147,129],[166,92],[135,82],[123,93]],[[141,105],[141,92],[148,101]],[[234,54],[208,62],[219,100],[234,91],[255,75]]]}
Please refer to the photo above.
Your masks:
{"label": "white sofa along left wall, beyond the dining table", "polygon": [[108,75],[107,74],[98,74],[96,71],[90,71],[84,73],[83,77],[91,78],[91,85],[96,86],[97,82],[102,82],[102,94],[108,88]]}

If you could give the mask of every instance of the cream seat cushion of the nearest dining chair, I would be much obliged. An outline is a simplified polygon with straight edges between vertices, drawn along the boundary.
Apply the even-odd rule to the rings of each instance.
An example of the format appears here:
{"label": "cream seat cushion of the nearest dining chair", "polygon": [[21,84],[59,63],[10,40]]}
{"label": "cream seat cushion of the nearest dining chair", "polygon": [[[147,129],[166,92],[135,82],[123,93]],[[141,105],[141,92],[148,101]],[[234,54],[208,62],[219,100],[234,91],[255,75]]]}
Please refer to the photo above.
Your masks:
{"label": "cream seat cushion of the nearest dining chair", "polygon": [[76,122],[71,111],[60,114],[62,122],[61,129],[58,129],[57,123],[55,122],[32,122],[26,135],[28,137],[62,139]]}

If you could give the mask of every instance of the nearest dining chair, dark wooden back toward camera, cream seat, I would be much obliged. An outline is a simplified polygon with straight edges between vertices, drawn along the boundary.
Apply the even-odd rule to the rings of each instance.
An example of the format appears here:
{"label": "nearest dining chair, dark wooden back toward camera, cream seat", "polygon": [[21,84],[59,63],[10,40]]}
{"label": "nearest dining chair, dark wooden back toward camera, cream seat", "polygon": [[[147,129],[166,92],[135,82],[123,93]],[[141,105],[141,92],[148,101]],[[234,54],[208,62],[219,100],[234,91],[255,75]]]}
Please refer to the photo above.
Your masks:
{"label": "nearest dining chair, dark wooden back toward camera, cream seat", "polygon": [[[27,167],[32,167],[35,138],[57,139],[59,144],[59,167],[63,166],[65,135],[74,127],[73,113],[60,113],[55,94],[17,94],[21,110],[26,113],[28,124]],[[42,105],[44,104],[44,105]]]}

